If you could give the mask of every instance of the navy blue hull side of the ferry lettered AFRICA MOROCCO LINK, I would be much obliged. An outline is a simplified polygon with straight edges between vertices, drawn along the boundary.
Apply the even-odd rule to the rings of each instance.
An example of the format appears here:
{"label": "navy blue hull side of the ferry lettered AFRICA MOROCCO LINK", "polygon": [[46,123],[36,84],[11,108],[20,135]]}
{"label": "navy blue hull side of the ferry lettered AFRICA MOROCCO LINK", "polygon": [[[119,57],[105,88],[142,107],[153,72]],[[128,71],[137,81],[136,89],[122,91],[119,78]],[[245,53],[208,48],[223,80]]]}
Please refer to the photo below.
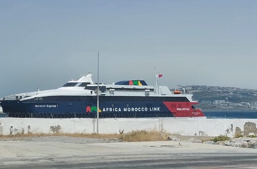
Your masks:
{"label": "navy blue hull side of the ferry lettered AFRICA MOROCCO LINK", "polygon": [[[99,99],[100,118],[174,117],[163,101],[189,102],[186,97],[112,97]],[[95,118],[96,97],[44,98],[43,100],[3,100],[3,112],[9,117]]]}

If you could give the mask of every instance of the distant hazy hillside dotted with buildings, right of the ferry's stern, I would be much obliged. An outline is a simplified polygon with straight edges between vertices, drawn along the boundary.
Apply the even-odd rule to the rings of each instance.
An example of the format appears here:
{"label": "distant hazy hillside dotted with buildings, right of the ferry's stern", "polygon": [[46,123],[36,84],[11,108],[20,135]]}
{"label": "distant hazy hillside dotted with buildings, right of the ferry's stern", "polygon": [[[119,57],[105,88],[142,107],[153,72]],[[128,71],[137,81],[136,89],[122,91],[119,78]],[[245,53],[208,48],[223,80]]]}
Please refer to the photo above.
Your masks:
{"label": "distant hazy hillside dotted with buildings, right of the ferry's stern", "polygon": [[231,87],[187,86],[203,111],[256,111],[257,90]]}

